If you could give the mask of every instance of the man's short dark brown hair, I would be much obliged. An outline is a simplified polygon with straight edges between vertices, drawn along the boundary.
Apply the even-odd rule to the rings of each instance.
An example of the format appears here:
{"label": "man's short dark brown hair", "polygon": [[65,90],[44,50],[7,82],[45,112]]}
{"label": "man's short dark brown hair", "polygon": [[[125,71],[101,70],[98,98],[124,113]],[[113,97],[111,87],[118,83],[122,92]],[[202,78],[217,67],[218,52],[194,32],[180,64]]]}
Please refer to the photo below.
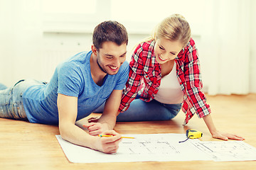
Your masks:
{"label": "man's short dark brown hair", "polygon": [[92,43],[97,50],[102,47],[103,42],[115,42],[117,45],[128,44],[126,28],[117,21],[105,21],[95,27],[92,34]]}

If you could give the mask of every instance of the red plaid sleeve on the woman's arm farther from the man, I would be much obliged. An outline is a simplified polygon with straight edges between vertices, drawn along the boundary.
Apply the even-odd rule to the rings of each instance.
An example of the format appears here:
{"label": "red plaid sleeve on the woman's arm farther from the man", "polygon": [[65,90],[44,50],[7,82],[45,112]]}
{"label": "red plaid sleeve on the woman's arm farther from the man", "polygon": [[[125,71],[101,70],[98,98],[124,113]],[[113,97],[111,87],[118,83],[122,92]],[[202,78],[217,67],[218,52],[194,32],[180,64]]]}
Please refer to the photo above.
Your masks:
{"label": "red plaid sleeve on the woman's arm farther from the man", "polygon": [[200,63],[198,51],[194,41],[191,39],[188,49],[185,51],[184,75],[186,82],[186,98],[183,102],[183,111],[186,113],[184,125],[197,113],[199,118],[210,114],[210,106],[206,103],[206,96],[201,91],[203,84],[201,81]]}

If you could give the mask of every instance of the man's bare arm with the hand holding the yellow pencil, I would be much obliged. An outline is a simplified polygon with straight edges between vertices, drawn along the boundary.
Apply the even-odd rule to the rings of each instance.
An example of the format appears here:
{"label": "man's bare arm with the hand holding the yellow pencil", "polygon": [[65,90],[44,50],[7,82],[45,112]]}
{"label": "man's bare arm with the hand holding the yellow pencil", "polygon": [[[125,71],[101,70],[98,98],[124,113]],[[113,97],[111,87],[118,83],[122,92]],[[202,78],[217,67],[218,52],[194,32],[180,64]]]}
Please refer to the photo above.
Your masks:
{"label": "man's bare arm with the hand holding the yellow pencil", "polygon": [[75,120],[78,115],[77,97],[58,94],[57,104],[59,130],[64,140],[101,152],[117,152],[121,136],[117,134],[117,132],[114,132],[114,130],[105,132],[106,135],[113,135],[113,137],[94,137],[88,135],[87,132],[75,125]]}

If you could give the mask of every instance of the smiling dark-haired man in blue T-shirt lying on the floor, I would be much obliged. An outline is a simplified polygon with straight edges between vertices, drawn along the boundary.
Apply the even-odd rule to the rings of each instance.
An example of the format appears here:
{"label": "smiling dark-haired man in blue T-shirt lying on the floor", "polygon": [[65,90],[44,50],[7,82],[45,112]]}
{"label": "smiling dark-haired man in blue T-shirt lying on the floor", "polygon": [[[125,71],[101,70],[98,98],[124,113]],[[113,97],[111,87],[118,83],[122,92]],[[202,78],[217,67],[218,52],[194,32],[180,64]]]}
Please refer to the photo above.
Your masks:
{"label": "smiling dark-haired man in blue T-shirt lying on the floor", "polygon": [[[128,79],[127,30],[116,21],[105,21],[96,26],[92,42],[90,52],[80,52],[59,64],[48,84],[21,80],[1,90],[0,117],[58,124],[60,135],[69,142],[117,152],[121,136],[112,129]],[[75,125],[104,102],[98,122],[84,125],[90,135]],[[97,137],[100,133],[112,137]]]}

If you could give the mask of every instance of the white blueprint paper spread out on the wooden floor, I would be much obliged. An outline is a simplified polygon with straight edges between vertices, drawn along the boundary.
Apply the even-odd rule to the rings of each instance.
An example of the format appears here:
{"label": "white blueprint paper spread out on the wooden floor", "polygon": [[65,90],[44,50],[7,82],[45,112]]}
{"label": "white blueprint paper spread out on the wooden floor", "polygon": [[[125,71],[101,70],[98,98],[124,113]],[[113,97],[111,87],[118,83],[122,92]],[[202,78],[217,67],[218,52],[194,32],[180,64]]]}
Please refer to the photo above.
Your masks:
{"label": "white blueprint paper spread out on the wooden floor", "polygon": [[56,135],[65,156],[74,163],[97,162],[171,162],[171,161],[245,161],[256,160],[256,149],[242,141],[186,140],[185,134],[125,135],[116,154],[104,154],[67,142]]}

